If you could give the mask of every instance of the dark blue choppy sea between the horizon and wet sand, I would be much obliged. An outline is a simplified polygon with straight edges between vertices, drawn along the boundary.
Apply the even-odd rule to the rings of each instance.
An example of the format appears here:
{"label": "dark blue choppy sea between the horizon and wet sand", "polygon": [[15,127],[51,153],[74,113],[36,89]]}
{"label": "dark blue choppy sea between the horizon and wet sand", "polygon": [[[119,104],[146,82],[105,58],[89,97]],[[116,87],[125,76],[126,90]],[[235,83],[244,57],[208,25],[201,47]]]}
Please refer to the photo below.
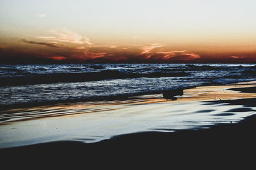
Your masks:
{"label": "dark blue choppy sea between the horizon and wet sand", "polygon": [[255,64],[0,65],[0,108],[115,100],[255,80]]}

